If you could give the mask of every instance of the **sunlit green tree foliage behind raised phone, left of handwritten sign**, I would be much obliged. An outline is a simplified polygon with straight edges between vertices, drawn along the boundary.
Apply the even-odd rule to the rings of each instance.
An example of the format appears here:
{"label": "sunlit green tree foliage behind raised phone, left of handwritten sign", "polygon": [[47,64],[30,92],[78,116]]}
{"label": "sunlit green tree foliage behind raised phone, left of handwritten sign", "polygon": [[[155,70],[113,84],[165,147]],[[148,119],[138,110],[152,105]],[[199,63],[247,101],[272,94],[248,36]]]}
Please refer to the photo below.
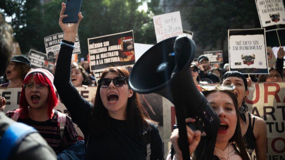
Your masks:
{"label": "sunlit green tree foliage behind raised phone, left of handwritten sign", "polygon": [[[30,48],[45,52],[44,37],[62,32],[58,25],[61,3],[52,0],[42,5],[40,0],[0,0],[0,10],[12,16],[15,39],[22,53]],[[138,7],[147,2],[145,12]],[[134,30],[135,43],[156,43],[152,15],[161,13],[159,0],[84,0],[81,5],[83,20],[78,29],[82,54],[88,53],[87,38]]]}

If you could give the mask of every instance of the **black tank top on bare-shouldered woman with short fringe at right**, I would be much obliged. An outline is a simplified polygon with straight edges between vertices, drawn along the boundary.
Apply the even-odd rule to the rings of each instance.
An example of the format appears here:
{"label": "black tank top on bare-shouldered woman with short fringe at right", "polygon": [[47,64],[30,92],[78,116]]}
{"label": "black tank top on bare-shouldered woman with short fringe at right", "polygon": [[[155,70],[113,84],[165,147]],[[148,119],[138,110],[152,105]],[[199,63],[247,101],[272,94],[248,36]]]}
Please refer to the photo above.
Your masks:
{"label": "black tank top on bare-shouldered woman with short fringe at right", "polygon": [[248,112],[248,127],[247,127],[247,131],[244,135],[245,141],[246,141],[246,151],[251,155],[254,147],[255,147],[255,141],[256,138],[253,134],[253,127],[254,127],[254,121],[255,121],[255,117],[253,117],[253,121],[252,121],[252,125],[251,125],[251,114]]}

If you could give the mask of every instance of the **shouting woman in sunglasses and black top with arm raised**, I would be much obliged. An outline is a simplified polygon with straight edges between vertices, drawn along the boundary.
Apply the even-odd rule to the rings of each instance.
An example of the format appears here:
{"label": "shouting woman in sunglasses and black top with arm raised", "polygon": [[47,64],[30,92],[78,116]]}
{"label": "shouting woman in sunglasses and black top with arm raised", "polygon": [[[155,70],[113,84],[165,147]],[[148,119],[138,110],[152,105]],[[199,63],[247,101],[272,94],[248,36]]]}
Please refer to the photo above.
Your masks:
{"label": "shouting woman in sunglasses and black top with arm raised", "polygon": [[[70,61],[79,22],[64,24],[62,3],[59,24],[64,32],[54,84],[73,121],[85,137],[86,159],[163,159],[162,140],[157,123],[141,111],[138,96],[128,86],[129,73],[121,67],[102,72],[95,103],[84,99],[70,79]],[[68,93],[68,95],[66,94]],[[149,143],[146,138],[150,138]],[[147,152],[149,150],[151,152]],[[148,154],[150,153],[150,155]]]}

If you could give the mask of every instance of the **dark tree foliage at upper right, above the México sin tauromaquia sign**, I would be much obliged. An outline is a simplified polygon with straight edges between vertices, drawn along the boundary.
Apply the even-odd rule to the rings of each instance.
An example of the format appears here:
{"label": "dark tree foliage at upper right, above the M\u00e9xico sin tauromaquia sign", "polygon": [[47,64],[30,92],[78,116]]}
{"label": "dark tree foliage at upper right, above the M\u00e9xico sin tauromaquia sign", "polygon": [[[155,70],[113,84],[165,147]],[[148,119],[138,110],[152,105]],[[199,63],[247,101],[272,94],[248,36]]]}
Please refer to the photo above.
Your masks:
{"label": "dark tree foliage at upper right, above the M\u00e9xico sin tauromaquia sign", "polygon": [[202,47],[223,49],[228,29],[260,28],[256,4],[248,0],[182,1],[183,15],[194,31],[194,39]]}

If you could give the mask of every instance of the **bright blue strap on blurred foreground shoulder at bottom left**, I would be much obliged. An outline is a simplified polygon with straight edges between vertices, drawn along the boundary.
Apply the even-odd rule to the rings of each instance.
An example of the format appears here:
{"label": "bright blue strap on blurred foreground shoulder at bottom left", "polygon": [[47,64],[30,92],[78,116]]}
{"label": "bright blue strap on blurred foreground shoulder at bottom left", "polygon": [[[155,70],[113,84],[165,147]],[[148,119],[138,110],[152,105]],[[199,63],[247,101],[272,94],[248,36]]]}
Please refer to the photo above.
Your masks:
{"label": "bright blue strap on blurred foreground shoulder at bottom left", "polygon": [[31,133],[37,133],[37,130],[23,123],[12,123],[4,132],[0,141],[0,159],[9,159],[10,153],[13,155],[13,151]]}

